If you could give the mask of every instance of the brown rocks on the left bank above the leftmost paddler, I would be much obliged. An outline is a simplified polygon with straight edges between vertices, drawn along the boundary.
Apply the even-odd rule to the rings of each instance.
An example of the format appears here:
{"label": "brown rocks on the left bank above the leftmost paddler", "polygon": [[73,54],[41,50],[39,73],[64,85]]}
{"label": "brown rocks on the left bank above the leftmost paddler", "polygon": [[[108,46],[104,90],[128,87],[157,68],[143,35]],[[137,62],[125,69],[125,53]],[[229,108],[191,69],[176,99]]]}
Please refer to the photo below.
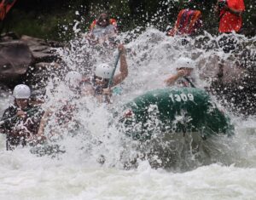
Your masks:
{"label": "brown rocks on the left bank above the leftmost paddler", "polygon": [[61,43],[46,42],[29,36],[17,39],[14,33],[6,34],[1,41],[0,83],[10,88],[18,83],[43,87],[47,83],[49,71],[55,71],[58,68],[55,67],[58,66],[55,63],[58,56],[54,48],[61,47]]}

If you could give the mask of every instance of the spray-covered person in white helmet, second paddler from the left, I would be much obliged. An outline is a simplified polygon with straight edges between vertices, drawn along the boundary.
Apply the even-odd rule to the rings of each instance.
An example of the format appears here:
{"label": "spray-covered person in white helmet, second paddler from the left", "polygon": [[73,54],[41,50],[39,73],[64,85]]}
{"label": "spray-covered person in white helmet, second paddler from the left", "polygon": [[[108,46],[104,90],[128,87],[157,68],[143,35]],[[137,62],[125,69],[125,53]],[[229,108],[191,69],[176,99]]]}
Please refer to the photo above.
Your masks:
{"label": "spray-covered person in white helmet, second paddler from the left", "polygon": [[[44,134],[44,129],[51,120],[55,123],[48,124],[48,139],[53,140],[53,136],[61,136],[63,130],[72,132],[79,129],[79,122],[74,115],[78,111],[77,101],[81,97],[83,75],[78,71],[68,71],[65,78],[65,97],[57,100],[55,105],[50,106],[42,117],[38,134]],[[71,130],[69,130],[71,128]]]}

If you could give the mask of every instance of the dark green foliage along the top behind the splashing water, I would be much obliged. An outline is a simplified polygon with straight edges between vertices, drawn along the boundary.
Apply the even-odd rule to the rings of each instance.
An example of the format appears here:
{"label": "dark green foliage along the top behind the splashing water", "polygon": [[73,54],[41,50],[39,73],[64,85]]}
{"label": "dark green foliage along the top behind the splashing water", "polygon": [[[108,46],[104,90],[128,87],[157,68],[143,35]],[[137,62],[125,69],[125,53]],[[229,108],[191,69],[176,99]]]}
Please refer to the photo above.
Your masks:
{"label": "dark green foliage along the top behind the splashing water", "polygon": [[[45,0],[28,5],[17,4],[9,14],[9,31],[53,40],[69,40],[73,37],[73,26],[79,21],[81,31],[88,31],[92,20],[102,12],[108,12],[118,20],[119,30],[128,31],[137,26],[155,26],[166,31],[173,26],[181,9],[200,9],[204,30],[218,33],[218,15],[213,6],[217,0]],[[255,27],[255,0],[244,0],[244,27]],[[32,4],[34,3],[34,4]],[[60,7],[60,4],[62,5]],[[23,7],[22,7],[23,6]],[[42,9],[44,8],[44,9]],[[254,16],[253,16],[254,14]],[[255,22],[254,22],[255,23]]]}

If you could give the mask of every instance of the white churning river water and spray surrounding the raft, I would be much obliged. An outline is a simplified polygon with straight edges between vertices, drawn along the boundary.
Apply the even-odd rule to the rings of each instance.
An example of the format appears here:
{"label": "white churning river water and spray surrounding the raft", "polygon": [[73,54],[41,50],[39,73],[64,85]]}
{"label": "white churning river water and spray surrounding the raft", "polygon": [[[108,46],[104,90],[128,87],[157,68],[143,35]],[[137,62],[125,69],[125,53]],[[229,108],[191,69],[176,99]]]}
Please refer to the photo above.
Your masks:
{"label": "white churning river water and spray surrounding the raft", "polygon": [[[135,35],[120,36],[120,40]],[[81,43],[74,40],[71,50],[59,50],[69,69],[85,73],[84,58],[89,60],[87,66],[104,56],[114,58],[108,51],[99,54]],[[124,167],[137,154],[136,144],[114,125],[113,113],[137,95],[165,87],[163,80],[175,71],[177,57],[195,56],[197,63],[207,66],[212,54],[227,56],[181,43],[180,38],[148,29],[126,44],[129,76],[122,84],[122,94],[113,96],[112,106],[99,105],[86,96],[76,101],[79,112],[75,118],[83,125],[59,130],[61,140],[55,140],[65,153],[39,157],[30,148],[5,151],[4,135],[0,135],[0,199],[255,199],[256,117],[237,117],[229,110],[234,136],[205,140],[199,152],[180,155],[171,168],[155,169],[147,159],[138,160],[136,167]],[[49,83],[45,107],[58,106],[72,95],[61,81],[56,82]],[[199,83],[201,88],[208,84]],[[1,112],[10,101],[10,97],[0,100]]]}

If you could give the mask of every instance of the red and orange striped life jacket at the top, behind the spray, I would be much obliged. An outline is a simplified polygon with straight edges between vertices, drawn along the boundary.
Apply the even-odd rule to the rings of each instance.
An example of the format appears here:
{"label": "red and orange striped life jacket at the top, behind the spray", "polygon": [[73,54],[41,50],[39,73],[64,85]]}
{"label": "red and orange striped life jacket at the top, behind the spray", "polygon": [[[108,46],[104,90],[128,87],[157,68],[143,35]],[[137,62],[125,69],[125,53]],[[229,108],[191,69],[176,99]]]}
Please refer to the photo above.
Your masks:
{"label": "red and orange striped life jacket at the top, behind the spray", "polygon": [[201,27],[201,11],[182,9],[177,14],[175,26],[167,31],[167,36],[191,35]]}

